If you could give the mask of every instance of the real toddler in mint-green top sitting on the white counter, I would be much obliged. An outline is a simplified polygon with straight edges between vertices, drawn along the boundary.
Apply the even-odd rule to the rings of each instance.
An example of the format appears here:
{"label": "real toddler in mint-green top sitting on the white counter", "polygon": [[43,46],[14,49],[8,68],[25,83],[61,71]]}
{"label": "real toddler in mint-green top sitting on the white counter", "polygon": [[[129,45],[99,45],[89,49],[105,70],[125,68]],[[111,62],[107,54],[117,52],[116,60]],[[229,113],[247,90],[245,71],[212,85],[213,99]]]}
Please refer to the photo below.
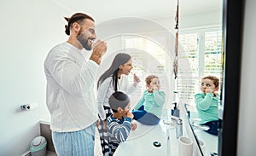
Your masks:
{"label": "real toddler in mint-green top sitting on the white counter", "polygon": [[142,124],[155,125],[160,122],[166,94],[160,91],[160,80],[155,75],[146,79],[147,90],[132,111],[134,118]]}

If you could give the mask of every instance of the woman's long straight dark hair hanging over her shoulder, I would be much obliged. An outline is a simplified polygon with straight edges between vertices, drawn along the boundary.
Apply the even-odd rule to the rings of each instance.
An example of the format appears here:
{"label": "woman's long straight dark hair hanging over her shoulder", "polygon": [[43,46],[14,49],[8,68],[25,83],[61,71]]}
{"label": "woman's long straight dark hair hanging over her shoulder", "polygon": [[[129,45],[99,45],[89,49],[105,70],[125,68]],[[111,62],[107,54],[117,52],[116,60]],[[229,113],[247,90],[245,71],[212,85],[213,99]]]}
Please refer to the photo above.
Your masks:
{"label": "woman's long straight dark hair hanging over her shoulder", "polygon": [[98,82],[97,82],[97,89],[99,89],[100,84],[102,84],[102,82],[112,76],[113,77],[113,90],[117,91],[117,86],[118,86],[118,72],[119,72],[119,66],[121,65],[125,65],[125,63],[127,61],[131,60],[131,55],[128,55],[126,53],[119,53],[117,55],[115,55],[112,65],[108,68],[108,70],[106,72],[104,72],[102,74],[102,76],[99,78]]}

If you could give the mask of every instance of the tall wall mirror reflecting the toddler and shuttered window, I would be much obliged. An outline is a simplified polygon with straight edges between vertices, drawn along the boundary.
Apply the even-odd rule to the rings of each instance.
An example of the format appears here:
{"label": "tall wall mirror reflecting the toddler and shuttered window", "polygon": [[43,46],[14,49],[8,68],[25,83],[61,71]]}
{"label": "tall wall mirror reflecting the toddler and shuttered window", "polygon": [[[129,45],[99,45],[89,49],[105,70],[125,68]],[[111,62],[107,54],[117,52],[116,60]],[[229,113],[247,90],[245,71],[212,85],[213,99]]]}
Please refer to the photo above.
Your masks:
{"label": "tall wall mirror reflecting the toddler and shuttered window", "polygon": [[[204,18],[211,19],[211,22],[215,25],[209,24],[209,26],[206,26],[206,23],[204,23],[192,28],[186,26],[186,22],[199,23],[197,19],[201,19],[202,14],[190,14],[191,17],[181,17],[179,25],[178,41],[183,52],[179,51],[178,64],[179,66],[188,67],[183,67],[184,70],[178,69],[177,91],[181,103],[185,104],[189,111],[189,124],[197,143],[204,144],[203,147],[199,146],[202,155],[218,153],[217,128],[213,131],[215,135],[212,135],[212,129],[210,129],[211,134],[207,132],[209,131],[207,129],[209,129],[209,124],[218,124],[218,113],[223,110],[220,101],[222,98],[222,78],[224,76],[222,5],[222,0],[214,1],[212,10],[203,14]],[[181,3],[180,10],[182,11],[182,9],[183,5]],[[183,63],[186,60],[188,62]],[[218,95],[213,97],[215,102],[211,105],[206,102],[202,103],[205,94],[201,94],[201,78],[208,75],[219,79]],[[196,99],[198,102],[195,102],[195,95],[197,95],[197,99],[200,99]],[[207,126],[203,124],[207,124]]]}

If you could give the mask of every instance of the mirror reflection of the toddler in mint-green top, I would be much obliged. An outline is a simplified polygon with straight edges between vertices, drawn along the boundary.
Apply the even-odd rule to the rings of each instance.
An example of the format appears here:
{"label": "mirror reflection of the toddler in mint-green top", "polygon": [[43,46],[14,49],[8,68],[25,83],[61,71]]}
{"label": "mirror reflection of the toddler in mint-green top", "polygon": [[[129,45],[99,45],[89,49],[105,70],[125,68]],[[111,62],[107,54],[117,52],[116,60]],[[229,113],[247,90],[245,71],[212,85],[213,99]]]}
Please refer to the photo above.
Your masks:
{"label": "mirror reflection of the toddler in mint-green top", "polygon": [[208,133],[218,136],[218,78],[207,76],[201,79],[201,91],[195,95],[195,104],[200,124],[210,127]]}

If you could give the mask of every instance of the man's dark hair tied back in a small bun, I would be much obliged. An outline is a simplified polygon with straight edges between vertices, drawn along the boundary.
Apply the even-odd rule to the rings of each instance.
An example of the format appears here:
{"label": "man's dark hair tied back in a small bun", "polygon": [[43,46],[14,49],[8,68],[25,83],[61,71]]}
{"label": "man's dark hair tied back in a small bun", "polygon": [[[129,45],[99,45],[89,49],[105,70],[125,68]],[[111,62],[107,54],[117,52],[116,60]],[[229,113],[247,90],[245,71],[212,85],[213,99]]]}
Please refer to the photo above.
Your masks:
{"label": "man's dark hair tied back in a small bun", "polygon": [[64,19],[67,20],[67,25],[65,25],[65,33],[67,35],[70,35],[70,26],[72,26],[74,22],[77,22],[79,25],[81,25],[86,19],[94,21],[90,15],[84,13],[76,13],[73,14],[70,18],[64,17]]}

